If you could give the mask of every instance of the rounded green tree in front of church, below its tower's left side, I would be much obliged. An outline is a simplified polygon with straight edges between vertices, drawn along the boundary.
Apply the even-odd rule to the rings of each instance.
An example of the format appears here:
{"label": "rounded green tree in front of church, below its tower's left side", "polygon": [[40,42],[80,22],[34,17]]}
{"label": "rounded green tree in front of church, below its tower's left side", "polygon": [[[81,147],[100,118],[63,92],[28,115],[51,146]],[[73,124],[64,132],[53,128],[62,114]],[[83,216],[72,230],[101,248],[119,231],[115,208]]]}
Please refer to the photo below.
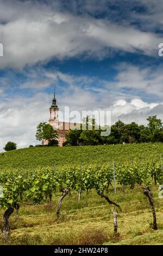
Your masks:
{"label": "rounded green tree in front of church, below its tower's left side", "polygon": [[46,140],[51,141],[58,138],[58,133],[56,130],[53,129],[53,127],[46,123],[42,122],[37,125],[36,130],[36,140],[40,140],[42,142],[45,142]]}

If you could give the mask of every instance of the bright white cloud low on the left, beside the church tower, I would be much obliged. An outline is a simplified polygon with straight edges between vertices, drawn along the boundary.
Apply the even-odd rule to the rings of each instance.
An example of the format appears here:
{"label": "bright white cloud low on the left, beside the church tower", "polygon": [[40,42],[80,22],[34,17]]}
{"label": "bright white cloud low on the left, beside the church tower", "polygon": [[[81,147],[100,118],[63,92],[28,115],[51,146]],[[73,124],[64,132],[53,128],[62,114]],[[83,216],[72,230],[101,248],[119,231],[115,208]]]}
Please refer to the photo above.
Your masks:
{"label": "bright white cloud low on the left, beside the church tower", "polygon": [[48,119],[48,103],[47,95],[42,93],[33,98],[15,96],[1,101],[0,151],[9,140],[15,141],[19,148],[36,144],[36,125]]}

